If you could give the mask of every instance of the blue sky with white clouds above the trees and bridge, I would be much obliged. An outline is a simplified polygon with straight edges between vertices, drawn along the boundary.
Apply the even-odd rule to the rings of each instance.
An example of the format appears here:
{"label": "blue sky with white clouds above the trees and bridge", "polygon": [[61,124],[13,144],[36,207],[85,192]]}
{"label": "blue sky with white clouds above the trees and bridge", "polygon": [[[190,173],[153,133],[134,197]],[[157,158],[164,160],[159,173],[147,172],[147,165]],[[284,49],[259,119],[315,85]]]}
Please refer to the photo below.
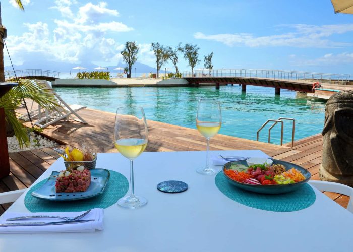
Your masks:
{"label": "blue sky with white clouds above the trees and bridge", "polygon": [[[334,14],[329,0],[22,0],[25,12],[13,2],[1,4],[16,65],[46,58],[114,66],[123,44],[136,41],[138,61],[153,67],[151,42],[182,42],[200,47],[197,68],[213,51],[214,69],[353,74],[353,15]],[[190,69],[182,55],[179,65]],[[172,70],[170,62],[164,67]]]}

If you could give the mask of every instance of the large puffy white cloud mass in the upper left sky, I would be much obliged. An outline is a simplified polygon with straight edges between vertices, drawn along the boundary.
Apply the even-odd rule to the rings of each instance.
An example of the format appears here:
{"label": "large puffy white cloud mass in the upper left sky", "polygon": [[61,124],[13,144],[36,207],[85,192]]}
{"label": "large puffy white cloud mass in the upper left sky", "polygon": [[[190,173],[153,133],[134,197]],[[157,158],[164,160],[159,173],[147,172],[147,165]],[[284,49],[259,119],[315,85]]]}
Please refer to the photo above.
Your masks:
{"label": "large puffy white cloud mass in the upper left sky", "polygon": [[7,44],[15,64],[33,60],[33,55],[38,57],[38,53],[53,61],[77,64],[99,61],[101,65],[104,62],[115,65],[122,61],[123,45],[108,34],[129,32],[133,28],[114,20],[119,16],[116,10],[108,9],[105,2],[88,3],[79,8],[76,0],[56,0],[54,3],[52,8],[60,10],[63,17],[54,20],[54,27],[43,22],[25,23],[28,32],[8,36]]}

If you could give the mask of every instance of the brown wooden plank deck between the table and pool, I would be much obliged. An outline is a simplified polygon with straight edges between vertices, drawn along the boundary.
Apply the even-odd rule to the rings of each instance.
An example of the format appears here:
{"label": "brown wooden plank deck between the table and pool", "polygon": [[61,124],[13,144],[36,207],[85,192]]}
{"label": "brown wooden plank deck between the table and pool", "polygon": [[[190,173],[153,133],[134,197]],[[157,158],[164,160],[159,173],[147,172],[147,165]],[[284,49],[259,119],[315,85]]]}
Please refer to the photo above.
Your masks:
{"label": "brown wooden plank deck between the table and pool", "polygon": [[[18,113],[23,113],[19,109]],[[61,148],[71,146],[81,148],[87,143],[98,152],[117,152],[113,146],[113,126],[115,114],[94,109],[83,109],[79,114],[88,121],[82,124],[74,121],[61,121],[44,129],[43,135],[56,140]],[[206,141],[197,130],[148,121],[149,140],[146,151],[199,151],[206,149]],[[322,162],[322,136],[314,135],[295,142],[290,148],[256,142],[225,135],[216,135],[210,141],[211,150],[259,149],[276,159],[292,162],[308,169],[312,179],[319,179],[318,171]],[[29,187],[58,158],[52,148],[10,153],[10,176],[0,181],[0,192]],[[334,193],[325,193],[343,207],[348,197]],[[2,214],[11,204],[0,207]]]}

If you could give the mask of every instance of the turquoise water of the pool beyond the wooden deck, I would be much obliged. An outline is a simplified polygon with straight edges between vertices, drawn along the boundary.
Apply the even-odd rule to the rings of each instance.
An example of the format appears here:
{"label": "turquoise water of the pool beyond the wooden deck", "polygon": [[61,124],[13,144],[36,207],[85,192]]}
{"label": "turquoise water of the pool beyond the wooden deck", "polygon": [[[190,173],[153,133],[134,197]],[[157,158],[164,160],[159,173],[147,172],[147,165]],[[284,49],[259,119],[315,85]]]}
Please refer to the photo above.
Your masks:
{"label": "turquoise water of the pool beyond the wooden deck", "polygon": [[[325,102],[314,102],[306,94],[274,88],[247,86],[242,93],[238,85],[200,88],[55,88],[69,104],[115,112],[121,106],[142,106],[147,119],[196,129],[195,116],[200,98],[216,98],[221,102],[221,134],[256,140],[256,131],[267,119],[296,119],[295,139],[320,133],[324,124]],[[270,124],[269,124],[270,125]],[[268,128],[260,133],[267,142]],[[284,123],[284,143],[291,141],[291,122]],[[271,131],[271,142],[280,142],[280,124]]]}

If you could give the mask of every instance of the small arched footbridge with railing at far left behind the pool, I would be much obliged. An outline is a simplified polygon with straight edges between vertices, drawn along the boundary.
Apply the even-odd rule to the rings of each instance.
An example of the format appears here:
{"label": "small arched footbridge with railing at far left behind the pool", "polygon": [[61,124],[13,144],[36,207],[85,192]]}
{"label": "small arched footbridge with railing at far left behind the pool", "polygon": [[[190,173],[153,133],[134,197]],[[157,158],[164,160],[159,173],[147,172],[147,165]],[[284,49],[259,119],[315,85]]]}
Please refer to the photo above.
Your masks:
{"label": "small arched footbridge with railing at far left behind the pool", "polygon": [[44,70],[44,69],[23,69],[10,71],[5,73],[5,77],[7,80],[13,80],[17,78],[23,79],[37,79],[37,80],[47,80],[54,81],[59,78],[60,72],[52,71],[52,70]]}

